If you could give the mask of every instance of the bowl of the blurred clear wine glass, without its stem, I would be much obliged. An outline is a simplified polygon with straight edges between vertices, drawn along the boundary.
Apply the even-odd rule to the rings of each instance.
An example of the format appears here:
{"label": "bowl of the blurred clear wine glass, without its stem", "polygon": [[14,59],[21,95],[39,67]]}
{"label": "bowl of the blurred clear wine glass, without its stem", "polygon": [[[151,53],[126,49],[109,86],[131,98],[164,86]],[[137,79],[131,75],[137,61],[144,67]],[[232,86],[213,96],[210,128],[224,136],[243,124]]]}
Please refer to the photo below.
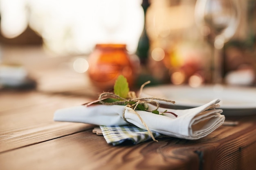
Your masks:
{"label": "bowl of the blurred clear wine glass, without its stem", "polygon": [[228,41],[236,32],[239,20],[237,0],[198,0],[195,6],[195,21],[205,36],[223,36]]}

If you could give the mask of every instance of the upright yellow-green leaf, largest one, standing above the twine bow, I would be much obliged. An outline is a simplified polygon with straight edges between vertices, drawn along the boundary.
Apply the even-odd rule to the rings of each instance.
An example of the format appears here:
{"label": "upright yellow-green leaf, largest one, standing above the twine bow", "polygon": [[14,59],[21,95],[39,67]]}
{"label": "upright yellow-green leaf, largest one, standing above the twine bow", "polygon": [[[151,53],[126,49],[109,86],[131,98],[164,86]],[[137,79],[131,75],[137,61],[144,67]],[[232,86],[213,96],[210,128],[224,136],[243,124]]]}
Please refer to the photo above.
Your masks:
{"label": "upright yellow-green leaf, largest one, standing above the twine bow", "polygon": [[114,93],[122,98],[127,98],[129,91],[127,79],[123,75],[118,76],[114,85]]}

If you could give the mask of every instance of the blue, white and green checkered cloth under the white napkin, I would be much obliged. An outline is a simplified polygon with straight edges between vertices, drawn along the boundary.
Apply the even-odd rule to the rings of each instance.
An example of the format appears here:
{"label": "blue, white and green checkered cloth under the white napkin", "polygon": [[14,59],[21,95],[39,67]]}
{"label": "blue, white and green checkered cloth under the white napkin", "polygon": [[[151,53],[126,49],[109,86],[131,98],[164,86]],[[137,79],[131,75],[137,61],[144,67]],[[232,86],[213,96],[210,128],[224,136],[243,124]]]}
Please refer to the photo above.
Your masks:
{"label": "blue, white and green checkered cloth under the white napkin", "polygon": [[[100,126],[104,138],[108,144],[113,146],[128,142],[139,144],[151,139],[147,130],[140,129],[137,126]],[[160,137],[161,134],[152,131],[153,136]]]}

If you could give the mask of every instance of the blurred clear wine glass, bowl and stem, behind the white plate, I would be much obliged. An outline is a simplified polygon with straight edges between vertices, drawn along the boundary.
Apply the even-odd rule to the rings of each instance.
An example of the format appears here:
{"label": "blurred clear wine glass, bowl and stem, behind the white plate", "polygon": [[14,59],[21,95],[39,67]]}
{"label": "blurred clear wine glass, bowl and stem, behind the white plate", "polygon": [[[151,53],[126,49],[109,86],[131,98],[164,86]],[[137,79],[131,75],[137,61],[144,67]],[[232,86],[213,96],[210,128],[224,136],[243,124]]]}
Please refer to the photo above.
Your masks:
{"label": "blurred clear wine glass, bowl and stem, behind the white plate", "polygon": [[212,83],[222,83],[224,43],[236,33],[240,20],[238,0],[197,0],[195,22],[213,47]]}

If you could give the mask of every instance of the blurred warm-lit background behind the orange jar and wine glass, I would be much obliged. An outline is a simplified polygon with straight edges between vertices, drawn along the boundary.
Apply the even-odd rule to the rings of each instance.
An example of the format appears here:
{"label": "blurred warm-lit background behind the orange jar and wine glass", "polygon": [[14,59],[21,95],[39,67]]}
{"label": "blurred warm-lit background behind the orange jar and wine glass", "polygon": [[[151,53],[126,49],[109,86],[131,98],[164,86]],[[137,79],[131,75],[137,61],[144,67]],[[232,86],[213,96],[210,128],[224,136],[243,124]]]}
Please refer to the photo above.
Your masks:
{"label": "blurred warm-lit background behind the orange jar and wine glass", "polygon": [[[255,86],[256,0],[238,1],[240,23],[224,45],[222,76],[229,85]],[[0,86],[82,89],[96,44],[126,44],[135,87],[211,83],[212,47],[196,26],[196,2],[0,0]]]}

